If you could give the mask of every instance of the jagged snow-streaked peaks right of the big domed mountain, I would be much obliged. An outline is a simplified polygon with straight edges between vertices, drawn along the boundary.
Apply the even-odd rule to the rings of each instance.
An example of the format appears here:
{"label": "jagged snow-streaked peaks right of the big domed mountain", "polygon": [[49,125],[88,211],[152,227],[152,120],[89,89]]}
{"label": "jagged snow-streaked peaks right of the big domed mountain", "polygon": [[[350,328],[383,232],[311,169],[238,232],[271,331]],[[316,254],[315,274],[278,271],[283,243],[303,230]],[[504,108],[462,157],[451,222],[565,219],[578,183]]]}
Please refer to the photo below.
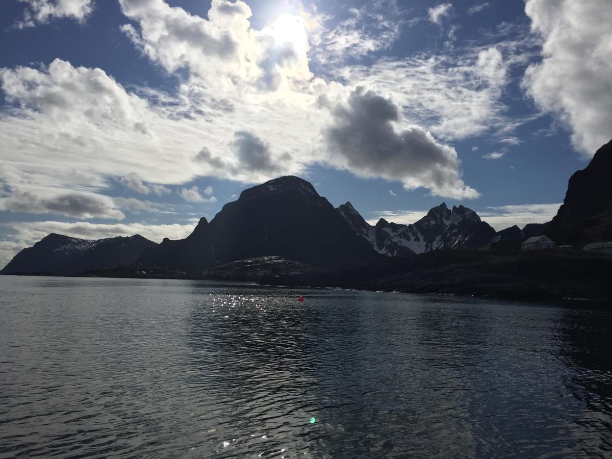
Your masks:
{"label": "jagged snow-streaked peaks right of the big domed mountain", "polygon": [[411,225],[389,223],[384,218],[369,225],[351,203],[338,207],[338,214],[368,241],[376,252],[387,256],[407,256],[430,250],[458,247],[484,247],[495,230],[482,222],[476,212],[464,206],[449,209],[445,203],[433,207]]}

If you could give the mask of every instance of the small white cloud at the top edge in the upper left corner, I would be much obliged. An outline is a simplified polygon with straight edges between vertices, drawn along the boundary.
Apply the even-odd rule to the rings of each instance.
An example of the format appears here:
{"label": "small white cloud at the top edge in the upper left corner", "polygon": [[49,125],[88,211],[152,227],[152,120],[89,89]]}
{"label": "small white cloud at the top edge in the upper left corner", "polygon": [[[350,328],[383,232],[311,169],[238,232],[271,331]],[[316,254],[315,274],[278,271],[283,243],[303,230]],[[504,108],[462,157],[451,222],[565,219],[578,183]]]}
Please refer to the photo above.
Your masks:
{"label": "small white cloud at the top edge in the upper left corner", "polygon": [[36,23],[46,24],[52,19],[70,18],[83,21],[94,9],[93,0],[19,0],[25,3],[23,21],[18,28],[34,27]]}

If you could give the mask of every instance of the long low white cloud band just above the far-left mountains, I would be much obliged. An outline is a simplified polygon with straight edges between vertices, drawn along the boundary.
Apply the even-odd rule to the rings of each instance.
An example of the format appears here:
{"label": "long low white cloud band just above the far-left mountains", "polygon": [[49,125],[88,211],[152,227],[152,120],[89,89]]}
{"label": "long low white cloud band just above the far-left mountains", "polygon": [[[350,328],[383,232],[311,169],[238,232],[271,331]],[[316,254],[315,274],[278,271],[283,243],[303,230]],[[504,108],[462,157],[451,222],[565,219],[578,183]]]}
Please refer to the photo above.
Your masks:
{"label": "long low white cloud band just above the far-left mountains", "polygon": [[[196,222],[197,223],[197,222]],[[119,223],[106,225],[88,222],[9,222],[0,226],[10,231],[6,237],[10,240],[0,241],[0,266],[4,267],[10,259],[26,247],[31,247],[50,233],[65,234],[81,239],[103,239],[116,236],[133,236],[140,234],[154,242],[162,242],[164,237],[184,239],[192,233],[195,224],[188,225],[147,225],[146,223]]]}

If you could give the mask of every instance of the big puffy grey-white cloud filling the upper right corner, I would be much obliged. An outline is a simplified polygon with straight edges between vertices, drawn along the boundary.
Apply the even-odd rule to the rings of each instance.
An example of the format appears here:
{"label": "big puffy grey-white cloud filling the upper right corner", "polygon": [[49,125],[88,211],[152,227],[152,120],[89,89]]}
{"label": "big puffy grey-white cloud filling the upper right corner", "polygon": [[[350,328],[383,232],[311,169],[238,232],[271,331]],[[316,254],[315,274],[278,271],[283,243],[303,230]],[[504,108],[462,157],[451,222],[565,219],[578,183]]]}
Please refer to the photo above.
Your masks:
{"label": "big puffy grey-white cloud filling the upper right corner", "polygon": [[612,2],[528,0],[525,12],[543,45],[542,61],[529,66],[524,87],[591,157],[612,138]]}

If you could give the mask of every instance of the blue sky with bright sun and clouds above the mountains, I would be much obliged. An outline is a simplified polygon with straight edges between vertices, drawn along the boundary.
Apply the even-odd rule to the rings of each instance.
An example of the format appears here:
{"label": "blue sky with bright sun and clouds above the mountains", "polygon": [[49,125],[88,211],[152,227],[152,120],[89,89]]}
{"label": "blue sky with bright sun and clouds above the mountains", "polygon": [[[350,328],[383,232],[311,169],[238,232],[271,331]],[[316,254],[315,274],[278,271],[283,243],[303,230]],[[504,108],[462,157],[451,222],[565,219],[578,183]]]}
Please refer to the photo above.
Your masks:
{"label": "blue sky with bright sun and clouds above the mountains", "polygon": [[371,223],[550,220],[612,138],[610,0],[2,0],[0,266],[293,174]]}

